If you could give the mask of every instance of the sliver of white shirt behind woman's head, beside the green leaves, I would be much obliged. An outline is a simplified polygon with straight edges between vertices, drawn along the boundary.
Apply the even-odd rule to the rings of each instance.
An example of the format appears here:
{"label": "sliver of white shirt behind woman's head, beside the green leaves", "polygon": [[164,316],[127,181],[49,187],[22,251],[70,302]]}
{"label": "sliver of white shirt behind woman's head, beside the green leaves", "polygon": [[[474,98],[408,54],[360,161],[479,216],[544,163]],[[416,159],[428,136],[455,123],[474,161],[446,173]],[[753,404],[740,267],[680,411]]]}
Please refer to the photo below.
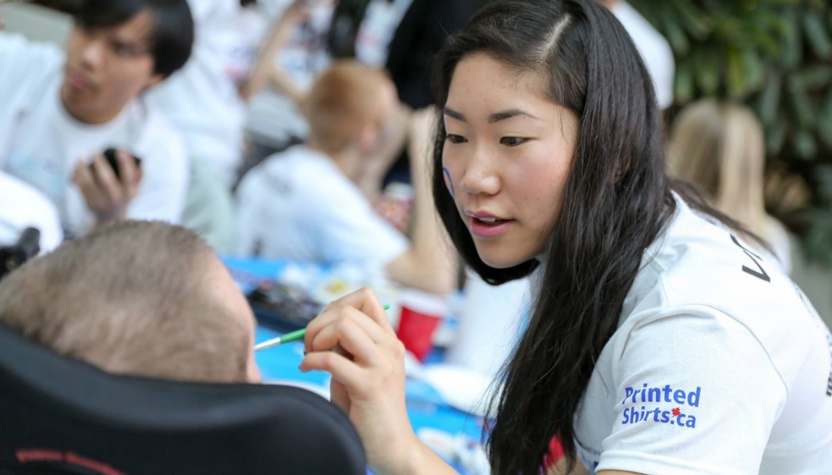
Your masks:
{"label": "sliver of white shirt behind woman's head, beside the green leaves", "polygon": [[624,25],[626,32],[630,33],[632,42],[636,43],[636,48],[641,53],[641,60],[650,72],[653,87],[656,88],[659,108],[670,107],[673,105],[673,75],[676,72],[670,43],[629,3],[623,0],[616,2],[612,13]]}

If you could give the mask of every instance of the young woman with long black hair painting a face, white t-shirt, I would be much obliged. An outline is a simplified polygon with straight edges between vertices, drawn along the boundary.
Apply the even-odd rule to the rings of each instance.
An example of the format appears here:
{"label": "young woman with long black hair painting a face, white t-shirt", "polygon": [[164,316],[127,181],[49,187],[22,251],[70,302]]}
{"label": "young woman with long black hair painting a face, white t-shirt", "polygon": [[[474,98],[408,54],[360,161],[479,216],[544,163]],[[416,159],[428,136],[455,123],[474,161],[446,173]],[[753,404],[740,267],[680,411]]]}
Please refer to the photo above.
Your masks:
{"label": "young woman with long black hair painting a face, white t-shirt", "polygon": [[[544,267],[493,401],[493,473],[830,473],[832,336],[740,225],[667,178],[650,77],[612,14],[494,2],[437,70],[453,244],[489,283]],[[305,346],[377,473],[453,473],[409,427],[404,349],[371,291]]]}

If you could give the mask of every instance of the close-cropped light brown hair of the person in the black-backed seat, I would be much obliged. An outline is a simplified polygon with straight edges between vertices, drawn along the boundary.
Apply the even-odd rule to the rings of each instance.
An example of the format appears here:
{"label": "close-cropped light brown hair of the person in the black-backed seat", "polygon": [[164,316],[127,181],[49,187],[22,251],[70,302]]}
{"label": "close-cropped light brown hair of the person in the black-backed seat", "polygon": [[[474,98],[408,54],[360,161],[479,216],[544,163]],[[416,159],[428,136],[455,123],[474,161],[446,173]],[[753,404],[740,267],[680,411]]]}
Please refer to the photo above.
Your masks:
{"label": "close-cropped light brown hair of the person in the black-backed seat", "polygon": [[7,275],[0,321],[111,373],[242,383],[250,335],[211,294],[215,259],[191,230],[121,221]]}

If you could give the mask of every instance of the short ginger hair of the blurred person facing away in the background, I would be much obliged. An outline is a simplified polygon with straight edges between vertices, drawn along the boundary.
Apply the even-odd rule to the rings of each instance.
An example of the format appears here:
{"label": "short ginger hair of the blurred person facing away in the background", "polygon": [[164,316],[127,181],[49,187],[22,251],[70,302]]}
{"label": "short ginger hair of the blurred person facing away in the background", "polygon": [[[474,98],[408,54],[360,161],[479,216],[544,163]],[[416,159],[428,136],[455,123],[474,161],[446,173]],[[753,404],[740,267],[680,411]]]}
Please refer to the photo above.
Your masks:
{"label": "short ginger hair of the blurred person facing away in the background", "polygon": [[310,141],[336,153],[349,146],[365,126],[383,117],[379,95],[392,87],[386,72],[355,60],[339,60],[314,82],[301,102],[310,124]]}

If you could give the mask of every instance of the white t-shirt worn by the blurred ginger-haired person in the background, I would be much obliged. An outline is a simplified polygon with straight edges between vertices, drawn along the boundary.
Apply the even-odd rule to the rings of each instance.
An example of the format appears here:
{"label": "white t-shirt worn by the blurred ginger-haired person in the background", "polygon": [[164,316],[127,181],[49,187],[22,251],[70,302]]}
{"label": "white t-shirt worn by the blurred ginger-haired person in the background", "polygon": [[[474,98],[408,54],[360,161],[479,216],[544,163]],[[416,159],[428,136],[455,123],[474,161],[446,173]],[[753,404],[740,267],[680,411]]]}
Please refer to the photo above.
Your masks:
{"label": "white t-shirt worn by the blurred ginger-haired person in the background", "polygon": [[408,249],[334,162],[306,146],[247,173],[237,205],[239,255],[386,265]]}

